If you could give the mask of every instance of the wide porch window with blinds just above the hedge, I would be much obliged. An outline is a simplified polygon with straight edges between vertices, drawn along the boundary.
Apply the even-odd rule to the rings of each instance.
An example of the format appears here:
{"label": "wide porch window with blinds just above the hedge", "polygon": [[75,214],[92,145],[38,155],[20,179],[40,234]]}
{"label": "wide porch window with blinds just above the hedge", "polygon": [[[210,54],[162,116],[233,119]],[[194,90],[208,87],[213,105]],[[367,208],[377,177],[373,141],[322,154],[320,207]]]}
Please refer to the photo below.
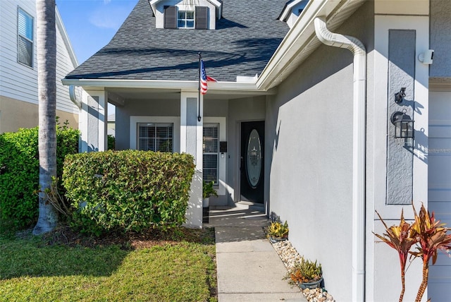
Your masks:
{"label": "wide porch window with blinds just above the hedge", "polygon": [[172,123],[138,123],[138,150],[173,152]]}

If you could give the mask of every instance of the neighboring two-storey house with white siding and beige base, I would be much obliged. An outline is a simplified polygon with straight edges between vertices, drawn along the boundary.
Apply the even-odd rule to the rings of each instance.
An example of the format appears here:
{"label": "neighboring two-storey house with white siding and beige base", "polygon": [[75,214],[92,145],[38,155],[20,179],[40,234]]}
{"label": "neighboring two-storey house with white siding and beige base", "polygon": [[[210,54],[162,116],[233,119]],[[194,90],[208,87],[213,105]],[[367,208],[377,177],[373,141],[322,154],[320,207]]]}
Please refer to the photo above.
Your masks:
{"label": "neighboring two-storey house with white siding and beige base", "polygon": [[[36,1],[0,0],[0,133],[38,125]],[[56,9],[56,115],[78,128],[61,79],[78,66]]]}

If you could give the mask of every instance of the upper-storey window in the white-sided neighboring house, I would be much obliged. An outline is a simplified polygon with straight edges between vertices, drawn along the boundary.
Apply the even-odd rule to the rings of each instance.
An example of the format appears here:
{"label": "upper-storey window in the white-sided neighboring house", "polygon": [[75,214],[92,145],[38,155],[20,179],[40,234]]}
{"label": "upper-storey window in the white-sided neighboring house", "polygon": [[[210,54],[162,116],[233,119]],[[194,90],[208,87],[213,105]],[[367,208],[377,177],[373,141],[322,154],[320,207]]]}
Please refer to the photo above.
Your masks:
{"label": "upper-storey window in the white-sided neighboring house", "polygon": [[33,18],[18,8],[18,54],[17,60],[21,64],[33,66]]}

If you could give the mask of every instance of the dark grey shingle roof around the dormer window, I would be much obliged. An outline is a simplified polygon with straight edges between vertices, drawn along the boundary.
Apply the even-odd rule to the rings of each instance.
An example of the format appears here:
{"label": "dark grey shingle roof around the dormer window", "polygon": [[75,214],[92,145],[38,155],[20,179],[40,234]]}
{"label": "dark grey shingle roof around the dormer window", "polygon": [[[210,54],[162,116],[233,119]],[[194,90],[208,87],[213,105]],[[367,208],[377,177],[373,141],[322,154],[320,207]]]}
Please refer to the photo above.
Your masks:
{"label": "dark grey shingle roof around the dormer window", "polygon": [[216,30],[155,28],[139,0],[111,42],[68,79],[197,80],[198,52],[217,80],[261,73],[289,28],[276,20],[286,0],[224,0]]}

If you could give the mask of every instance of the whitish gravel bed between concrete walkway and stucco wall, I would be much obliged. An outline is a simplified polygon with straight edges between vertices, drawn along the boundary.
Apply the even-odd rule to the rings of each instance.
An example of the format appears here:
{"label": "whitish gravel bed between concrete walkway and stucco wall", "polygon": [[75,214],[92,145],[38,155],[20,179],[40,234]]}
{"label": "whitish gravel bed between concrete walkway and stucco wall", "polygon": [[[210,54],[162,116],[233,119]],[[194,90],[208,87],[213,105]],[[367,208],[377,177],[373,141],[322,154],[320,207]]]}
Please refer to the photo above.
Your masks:
{"label": "whitish gravel bed between concrete walkway and stucco wall", "polygon": [[[297,250],[293,248],[288,240],[278,241],[276,243],[272,243],[272,245],[287,268],[287,271],[294,267],[295,263],[299,262],[301,259],[301,256],[297,253]],[[323,289],[304,289],[302,290],[302,294],[304,294],[305,298],[307,298],[307,301],[309,302],[335,302],[333,296],[328,294],[327,291],[323,291]]]}

